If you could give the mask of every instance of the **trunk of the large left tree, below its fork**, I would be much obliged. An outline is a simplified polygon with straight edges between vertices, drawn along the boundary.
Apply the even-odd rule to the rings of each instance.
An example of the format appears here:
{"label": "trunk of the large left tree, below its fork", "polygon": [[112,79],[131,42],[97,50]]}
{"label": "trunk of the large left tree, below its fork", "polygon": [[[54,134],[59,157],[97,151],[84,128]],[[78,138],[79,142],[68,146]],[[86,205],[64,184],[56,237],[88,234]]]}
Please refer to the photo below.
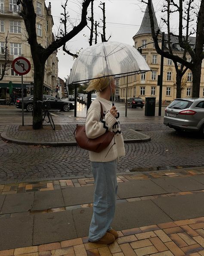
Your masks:
{"label": "trunk of the large left tree, below its fork", "polygon": [[43,82],[44,82],[45,63],[38,61],[34,64],[34,100],[33,100],[33,129],[43,128],[42,104],[37,100],[43,101]]}

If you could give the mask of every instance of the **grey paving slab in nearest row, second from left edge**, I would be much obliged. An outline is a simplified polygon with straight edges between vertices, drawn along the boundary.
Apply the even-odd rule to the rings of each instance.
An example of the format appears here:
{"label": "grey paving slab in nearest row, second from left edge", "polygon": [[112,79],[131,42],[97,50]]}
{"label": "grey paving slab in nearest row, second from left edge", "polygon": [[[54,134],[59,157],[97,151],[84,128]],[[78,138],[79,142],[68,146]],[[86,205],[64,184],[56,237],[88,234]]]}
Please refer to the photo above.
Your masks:
{"label": "grey paving slab in nearest row, second from left edge", "polygon": [[77,233],[70,211],[34,214],[34,245],[74,238],[77,238]]}

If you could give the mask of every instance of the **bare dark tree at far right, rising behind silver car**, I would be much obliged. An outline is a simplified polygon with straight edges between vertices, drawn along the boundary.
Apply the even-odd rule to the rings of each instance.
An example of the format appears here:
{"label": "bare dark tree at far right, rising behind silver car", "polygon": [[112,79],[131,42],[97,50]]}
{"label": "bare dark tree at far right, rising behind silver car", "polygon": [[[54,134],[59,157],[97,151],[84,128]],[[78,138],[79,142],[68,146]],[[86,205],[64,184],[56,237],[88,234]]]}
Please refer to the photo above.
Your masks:
{"label": "bare dark tree at far right, rising behind silver car", "polygon": [[[192,82],[192,96],[199,97],[200,94],[200,79],[201,79],[201,63],[204,58],[203,52],[203,45],[204,45],[204,0],[200,1],[199,11],[197,15],[197,27],[194,29],[195,31],[195,49],[191,48],[191,44],[189,42],[189,36],[192,35],[192,31],[189,31],[190,22],[192,19],[191,11],[194,10],[195,12],[195,5],[193,5],[193,0],[179,0],[177,4],[174,0],[166,0],[167,6],[167,27],[168,30],[168,50],[162,51],[159,44],[158,44],[158,35],[160,30],[155,31],[155,24],[154,24],[154,17],[152,12],[152,3],[151,0],[142,2],[148,5],[148,13],[150,17],[151,23],[151,35],[155,42],[155,49],[158,54],[164,56],[165,58],[169,58],[173,60],[173,63],[176,68],[176,83],[178,83],[178,90],[180,90],[180,83],[182,79],[182,75],[185,71],[189,68],[192,70],[193,75],[193,82]],[[186,7],[183,7],[185,3]],[[170,9],[170,6],[174,9]],[[175,35],[174,33],[170,32],[170,14],[173,12],[177,12],[179,14],[179,34]],[[185,21],[185,22],[184,22]],[[185,23],[185,24],[184,24]],[[183,30],[185,28],[185,35],[183,34]],[[175,52],[172,51],[171,48],[171,39],[170,35],[175,36],[178,38],[179,46],[184,50],[183,55],[176,55]],[[186,53],[191,56],[192,61],[187,61]],[[177,63],[181,64],[181,68],[178,68]],[[180,92],[179,92],[180,93]]]}

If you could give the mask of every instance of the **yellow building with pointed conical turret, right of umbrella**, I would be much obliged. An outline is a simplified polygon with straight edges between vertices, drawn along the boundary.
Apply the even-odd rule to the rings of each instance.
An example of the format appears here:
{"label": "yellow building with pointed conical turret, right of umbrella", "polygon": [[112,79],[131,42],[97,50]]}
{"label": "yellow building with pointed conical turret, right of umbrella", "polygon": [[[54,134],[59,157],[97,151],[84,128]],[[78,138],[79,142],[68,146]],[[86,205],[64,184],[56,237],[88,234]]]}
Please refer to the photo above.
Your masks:
{"label": "yellow building with pointed conical turret, right of umbrella", "polygon": [[[155,30],[158,29],[158,22],[155,16],[154,8],[152,6],[155,20]],[[161,39],[161,35],[159,35]],[[167,39],[167,35],[165,35]],[[142,99],[145,97],[156,97],[156,103],[159,101],[159,86],[158,86],[158,75],[160,75],[160,64],[161,64],[161,55],[157,53],[154,46],[154,41],[151,37],[151,26],[150,19],[148,14],[148,7],[145,10],[144,17],[142,19],[141,26],[133,36],[134,47],[136,49],[142,49],[142,56],[145,58],[145,61],[148,63],[151,71],[148,71],[144,74],[138,74],[134,76],[123,77],[119,81],[119,95],[120,99],[127,99],[133,96],[140,96]],[[195,45],[195,37],[189,37],[192,48]],[[180,48],[178,39],[171,36],[171,43],[174,54],[182,55],[183,49]],[[159,43],[161,47],[161,42]],[[165,45],[166,50],[167,45]],[[191,61],[190,56],[187,54],[187,60]],[[202,64],[202,73],[201,73],[201,86],[200,86],[200,97],[204,96],[204,66]],[[188,98],[192,95],[192,72],[187,70],[182,79],[182,97]],[[164,71],[163,71],[163,88],[162,88],[162,103],[170,103],[173,99],[176,98],[176,70],[173,64],[173,61],[170,59],[164,58]]]}

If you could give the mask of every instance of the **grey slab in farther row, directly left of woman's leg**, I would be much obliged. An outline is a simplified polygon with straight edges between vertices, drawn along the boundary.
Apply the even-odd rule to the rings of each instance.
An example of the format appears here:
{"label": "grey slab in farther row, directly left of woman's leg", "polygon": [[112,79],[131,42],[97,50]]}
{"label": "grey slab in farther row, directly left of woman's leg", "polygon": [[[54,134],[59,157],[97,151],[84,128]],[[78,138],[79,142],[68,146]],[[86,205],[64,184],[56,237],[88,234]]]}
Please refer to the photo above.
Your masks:
{"label": "grey slab in farther row, directly left of woman's leg", "polygon": [[94,186],[66,187],[62,189],[65,205],[82,205],[93,202]]}

